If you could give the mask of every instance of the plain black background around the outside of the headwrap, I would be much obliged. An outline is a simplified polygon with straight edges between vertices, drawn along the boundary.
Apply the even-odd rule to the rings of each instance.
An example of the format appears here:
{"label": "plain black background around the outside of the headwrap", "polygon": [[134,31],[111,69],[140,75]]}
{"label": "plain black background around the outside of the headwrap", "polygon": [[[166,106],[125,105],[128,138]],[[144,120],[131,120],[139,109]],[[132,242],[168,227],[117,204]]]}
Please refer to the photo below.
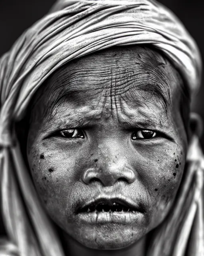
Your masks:
{"label": "plain black background around the outside of the headwrap", "polygon": [[[15,40],[51,8],[55,0],[0,0],[0,56]],[[182,20],[204,56],[204,1],[160,0]],[[204,120],[204,84],[192,102],[192,109]],[[201,139],[204,148],[204,136]]]}

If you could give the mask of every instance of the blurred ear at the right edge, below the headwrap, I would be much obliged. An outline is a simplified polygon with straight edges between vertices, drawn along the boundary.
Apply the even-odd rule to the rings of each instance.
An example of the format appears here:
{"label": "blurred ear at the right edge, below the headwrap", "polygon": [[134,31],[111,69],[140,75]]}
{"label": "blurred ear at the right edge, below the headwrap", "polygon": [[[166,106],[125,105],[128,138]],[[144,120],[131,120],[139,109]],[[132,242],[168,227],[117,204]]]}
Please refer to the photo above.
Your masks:
{"label": "blurred ear at the right edge, below the headwrap", "polygon": [[193,135],[196,135],[198,138],[202,136],[203,132],[203,122],[202,118],[196,114],[190,113],[190,125],[189,125],[189,138],[191,139]]}

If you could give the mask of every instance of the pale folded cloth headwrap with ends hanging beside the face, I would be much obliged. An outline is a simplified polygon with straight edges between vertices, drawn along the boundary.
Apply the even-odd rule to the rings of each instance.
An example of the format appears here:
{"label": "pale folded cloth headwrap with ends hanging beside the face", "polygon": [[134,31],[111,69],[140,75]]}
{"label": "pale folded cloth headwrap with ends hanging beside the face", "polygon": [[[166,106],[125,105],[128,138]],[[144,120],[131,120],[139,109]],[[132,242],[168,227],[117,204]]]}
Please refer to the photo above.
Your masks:
{"label": "pale folded cloth headwrap with ends hanging beside the face", "polygon": [[[23,118],[37,88],[63,64],[111,46],[134,44],[159,49],[191,92],[199,87],[202,64],[194,40],[170,10],[153,0],[59,0],[0,59],[0,175],[10,255],[63,256],[24,164],[15,122]],[[148,256],[183,256],[187,243],[189,255],[203,255],[203,156],[196,137],[190,145],[192,164],[174,214],[157,230]],[[0,247],[6,253],[8,247]]]}

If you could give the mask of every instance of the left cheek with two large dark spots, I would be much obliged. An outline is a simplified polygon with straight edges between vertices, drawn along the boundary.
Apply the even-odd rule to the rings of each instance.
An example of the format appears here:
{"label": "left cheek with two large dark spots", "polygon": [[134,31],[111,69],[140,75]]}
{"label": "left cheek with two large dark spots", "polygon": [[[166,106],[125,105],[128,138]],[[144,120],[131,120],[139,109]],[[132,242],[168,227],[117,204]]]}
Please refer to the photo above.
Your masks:
{"label": "left cheek with two large dark spots", "polygon": [[[28,154],[33,182],[49,216],[59,225],[67,221],[67,207],[74,184],[78,180],[75,154],[36,143]],[[69,212],[68,212],[69,213]]]}

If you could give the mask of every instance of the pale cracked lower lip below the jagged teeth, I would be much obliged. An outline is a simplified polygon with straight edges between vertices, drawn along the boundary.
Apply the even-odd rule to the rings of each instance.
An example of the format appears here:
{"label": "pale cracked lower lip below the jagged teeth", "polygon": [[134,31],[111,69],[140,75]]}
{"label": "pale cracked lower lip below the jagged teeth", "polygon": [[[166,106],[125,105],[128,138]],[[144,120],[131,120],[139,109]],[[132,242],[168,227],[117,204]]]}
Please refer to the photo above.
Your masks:
{"label": "pale cracked lower lip below the jagged teeth", "polygon": [[106,223],[133,223],[144,216],[141,212],[83,212],[76,215],[77,218],[89,224]]}

